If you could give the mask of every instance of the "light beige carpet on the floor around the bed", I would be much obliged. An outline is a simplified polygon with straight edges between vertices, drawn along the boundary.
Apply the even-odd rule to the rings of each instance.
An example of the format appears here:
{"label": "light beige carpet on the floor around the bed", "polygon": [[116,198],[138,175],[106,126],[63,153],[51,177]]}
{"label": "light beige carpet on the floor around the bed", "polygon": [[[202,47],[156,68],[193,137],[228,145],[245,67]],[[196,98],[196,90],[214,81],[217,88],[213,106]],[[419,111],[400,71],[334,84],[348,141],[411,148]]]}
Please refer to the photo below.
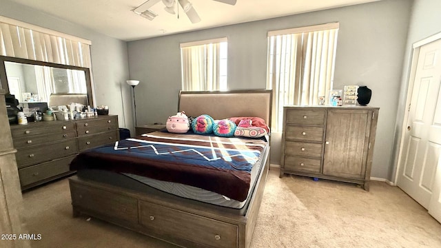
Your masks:
{"label": "light beige carpet on the floor around the bed", "polygon": [[[32,247],[175,247],[86,216],[72,218],[68,180],[23,194]],[[441,247],[441,225],[398,187],[356,185],[271,168],[251,248]]]}

